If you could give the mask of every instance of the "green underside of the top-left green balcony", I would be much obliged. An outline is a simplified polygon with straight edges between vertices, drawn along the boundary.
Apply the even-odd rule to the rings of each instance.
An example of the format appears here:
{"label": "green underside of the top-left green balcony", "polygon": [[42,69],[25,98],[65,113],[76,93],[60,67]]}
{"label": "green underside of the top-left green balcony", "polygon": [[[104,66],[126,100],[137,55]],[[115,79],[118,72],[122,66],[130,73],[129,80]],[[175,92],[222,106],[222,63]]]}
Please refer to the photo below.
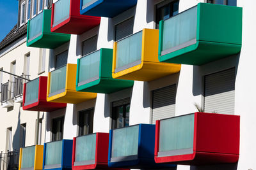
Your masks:
{"label": "green underside of the top-left green balcony", "polygon": [[56,48],[63,43],[67,43],[70,40],[70,35],[58,35],[55,33],[47,34],[44,33],[37,38],[28,41],[27,46],[38,47],[38,48]]}

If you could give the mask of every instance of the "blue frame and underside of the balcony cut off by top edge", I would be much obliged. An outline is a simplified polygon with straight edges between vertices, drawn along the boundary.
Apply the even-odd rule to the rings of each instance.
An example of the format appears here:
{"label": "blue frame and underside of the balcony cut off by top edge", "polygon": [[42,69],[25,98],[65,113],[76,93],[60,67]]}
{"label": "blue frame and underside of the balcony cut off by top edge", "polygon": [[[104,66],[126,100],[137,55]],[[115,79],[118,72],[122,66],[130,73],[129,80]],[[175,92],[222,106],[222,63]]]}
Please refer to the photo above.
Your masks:
{"label": "blue frame and underside of the balcony cut off by top edge", "polygon": [[81,15],[113,18],[116,15],[136,6],[138,0],[98,0],[90,6],[83,8],[83,0],[80,0]]}

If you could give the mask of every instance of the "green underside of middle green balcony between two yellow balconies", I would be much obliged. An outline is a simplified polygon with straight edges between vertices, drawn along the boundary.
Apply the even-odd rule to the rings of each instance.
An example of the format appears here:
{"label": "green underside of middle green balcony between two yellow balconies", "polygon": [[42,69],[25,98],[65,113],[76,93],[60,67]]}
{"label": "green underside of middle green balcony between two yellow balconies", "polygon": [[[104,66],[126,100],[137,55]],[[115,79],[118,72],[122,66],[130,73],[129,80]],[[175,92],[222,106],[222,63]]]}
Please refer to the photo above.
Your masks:
{"label": "green underside of middle green balcony between two yellow balconies", "polygon": [[98,80],[76,87],[76,89],[79,92],[95,92],[95,93],[110,94],[113,92],[117,92],[129,87],[132,87],[133,84],[134,84],[134,81],[130,81],[130,80],[99,78]]}

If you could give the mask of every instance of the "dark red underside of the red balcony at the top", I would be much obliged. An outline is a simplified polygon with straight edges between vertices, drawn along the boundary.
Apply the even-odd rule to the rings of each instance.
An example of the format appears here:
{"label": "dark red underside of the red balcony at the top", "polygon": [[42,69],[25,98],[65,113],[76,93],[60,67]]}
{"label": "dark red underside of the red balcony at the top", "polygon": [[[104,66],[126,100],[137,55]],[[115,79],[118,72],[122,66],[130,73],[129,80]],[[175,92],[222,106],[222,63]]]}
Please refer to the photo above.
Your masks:
{"label": "dark red underside of the red balcony at the top", "polygon": [[52,27],[51,31],[65,34],[82,34],[99,24],[100,18],[83,15],[79,17],[71,16],[55,27]]}

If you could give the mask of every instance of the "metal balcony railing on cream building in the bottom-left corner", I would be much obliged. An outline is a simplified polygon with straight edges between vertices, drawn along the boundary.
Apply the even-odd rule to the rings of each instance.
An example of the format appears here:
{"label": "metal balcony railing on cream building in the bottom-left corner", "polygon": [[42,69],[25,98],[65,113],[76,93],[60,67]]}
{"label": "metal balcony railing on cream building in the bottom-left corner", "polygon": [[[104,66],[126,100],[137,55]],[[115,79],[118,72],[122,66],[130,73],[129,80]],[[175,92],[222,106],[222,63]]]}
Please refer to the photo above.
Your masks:
{"label": "metal balcony railing on cream building in the bottom-left corner", "polygon": [[0,170],[15,170],[19,169],[19,152],[0,153]]}

